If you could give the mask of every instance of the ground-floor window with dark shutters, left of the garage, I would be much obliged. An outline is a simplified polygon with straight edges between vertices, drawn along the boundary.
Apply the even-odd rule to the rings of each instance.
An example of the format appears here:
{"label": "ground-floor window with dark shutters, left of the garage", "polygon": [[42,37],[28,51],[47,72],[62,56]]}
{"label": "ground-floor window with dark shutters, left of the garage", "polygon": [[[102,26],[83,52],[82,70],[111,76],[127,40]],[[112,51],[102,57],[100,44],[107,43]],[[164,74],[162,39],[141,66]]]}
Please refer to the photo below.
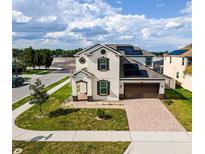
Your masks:
{"label": "ground-floor window with dark shutters, left of the garage", "polygon": [[100,80],[97,82],[98,95],[106,96],[110,93],[110,82],[107,80]]}

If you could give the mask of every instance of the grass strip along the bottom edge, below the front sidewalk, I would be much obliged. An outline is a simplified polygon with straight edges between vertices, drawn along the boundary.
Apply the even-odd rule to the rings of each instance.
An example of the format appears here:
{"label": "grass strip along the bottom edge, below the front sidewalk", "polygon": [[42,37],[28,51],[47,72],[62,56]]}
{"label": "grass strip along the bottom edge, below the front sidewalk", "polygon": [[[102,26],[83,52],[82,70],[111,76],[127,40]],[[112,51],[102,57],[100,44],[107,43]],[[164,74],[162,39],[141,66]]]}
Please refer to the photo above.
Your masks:
{"label": "grass strip along the bottom edge, below the front sidewalk", "polygon": [[22,154],[123,154],[130,142],[25,142],[13,141]]}

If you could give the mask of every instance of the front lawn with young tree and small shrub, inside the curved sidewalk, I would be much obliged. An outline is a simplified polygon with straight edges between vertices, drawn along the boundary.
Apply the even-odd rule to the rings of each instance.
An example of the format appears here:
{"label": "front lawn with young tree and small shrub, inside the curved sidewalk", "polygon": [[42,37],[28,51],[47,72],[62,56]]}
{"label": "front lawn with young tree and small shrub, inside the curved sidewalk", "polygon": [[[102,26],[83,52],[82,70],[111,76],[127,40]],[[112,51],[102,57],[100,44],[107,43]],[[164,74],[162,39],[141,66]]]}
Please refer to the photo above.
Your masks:
{"label": "front lawn with young tree and small shrub, inside the curved sidewalk", "polygon": [[61,103],[70,94],[70,85],[62,87],[42,106],[43,118],[38,118],[39,106],[35,105],[17,117],[17,126],[30,130],[129,130],[123,109],[104,109],[106,120],[95,119],[96,109],[62,109]]}

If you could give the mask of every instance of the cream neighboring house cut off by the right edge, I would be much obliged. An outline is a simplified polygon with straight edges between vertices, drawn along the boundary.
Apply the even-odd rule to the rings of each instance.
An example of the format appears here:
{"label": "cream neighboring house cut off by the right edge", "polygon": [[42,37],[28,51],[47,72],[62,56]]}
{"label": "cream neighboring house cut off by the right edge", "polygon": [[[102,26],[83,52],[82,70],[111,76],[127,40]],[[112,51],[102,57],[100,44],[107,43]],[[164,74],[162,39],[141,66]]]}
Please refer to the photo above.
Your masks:
{"label": "cream neighboring house cut off by the right edge", "polygon": [[163,73],[175,79],[183,88],[192,91],[192,45],[165,55]]}

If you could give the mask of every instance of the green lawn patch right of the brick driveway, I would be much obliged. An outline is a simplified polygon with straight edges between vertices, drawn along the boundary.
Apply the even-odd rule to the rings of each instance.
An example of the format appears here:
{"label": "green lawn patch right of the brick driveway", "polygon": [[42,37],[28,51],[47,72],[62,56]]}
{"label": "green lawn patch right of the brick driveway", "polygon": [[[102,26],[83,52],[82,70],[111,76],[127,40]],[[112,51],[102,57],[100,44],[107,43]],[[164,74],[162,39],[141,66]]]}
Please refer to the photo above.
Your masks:
{"label": "green lawn patch right of the brick driveway", "polygon": [[192,93],[183,88],[165,90],[165,106],[187,131],[192,131]]}

